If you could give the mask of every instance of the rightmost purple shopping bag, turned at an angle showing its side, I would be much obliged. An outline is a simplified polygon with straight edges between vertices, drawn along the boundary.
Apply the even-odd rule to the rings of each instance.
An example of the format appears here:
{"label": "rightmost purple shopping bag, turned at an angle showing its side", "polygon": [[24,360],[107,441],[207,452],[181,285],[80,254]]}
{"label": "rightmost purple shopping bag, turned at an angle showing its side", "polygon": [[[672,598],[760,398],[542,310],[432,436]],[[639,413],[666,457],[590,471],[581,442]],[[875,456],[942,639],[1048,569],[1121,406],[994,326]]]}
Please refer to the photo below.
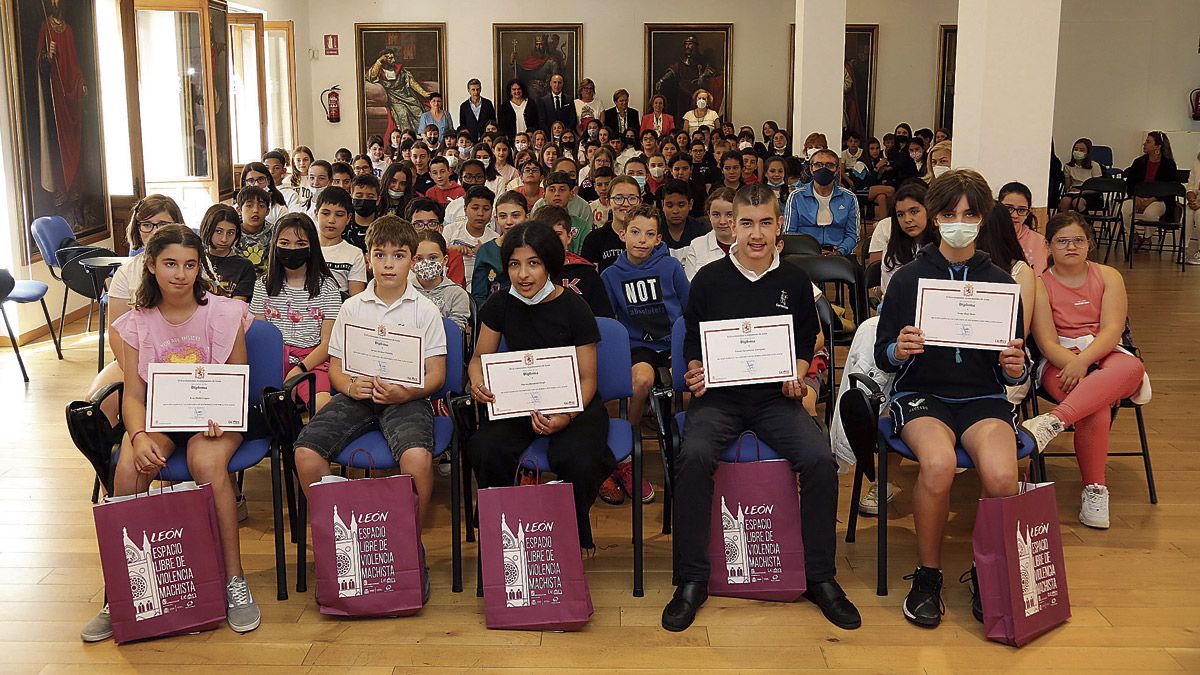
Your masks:
{"label": "rightmost purple shopping bag, turned at an angle showing its side", "polygon": [[1054,483],[979,500],[972,539],[989,640],[1019,647],[1070,619]]}

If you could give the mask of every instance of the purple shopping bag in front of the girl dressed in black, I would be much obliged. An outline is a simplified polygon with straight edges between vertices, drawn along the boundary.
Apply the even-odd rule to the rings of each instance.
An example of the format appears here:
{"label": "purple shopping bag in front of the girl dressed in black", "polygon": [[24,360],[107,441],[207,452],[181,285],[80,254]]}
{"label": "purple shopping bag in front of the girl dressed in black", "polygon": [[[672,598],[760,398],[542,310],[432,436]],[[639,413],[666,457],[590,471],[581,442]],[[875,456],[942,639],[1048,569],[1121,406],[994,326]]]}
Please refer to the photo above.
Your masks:
{"label": "purple shopping bag in front of the girl dressed in black", "polygon": [[592,619],[575,496],[568,483],[479,491],[488,628],[578,631]]}

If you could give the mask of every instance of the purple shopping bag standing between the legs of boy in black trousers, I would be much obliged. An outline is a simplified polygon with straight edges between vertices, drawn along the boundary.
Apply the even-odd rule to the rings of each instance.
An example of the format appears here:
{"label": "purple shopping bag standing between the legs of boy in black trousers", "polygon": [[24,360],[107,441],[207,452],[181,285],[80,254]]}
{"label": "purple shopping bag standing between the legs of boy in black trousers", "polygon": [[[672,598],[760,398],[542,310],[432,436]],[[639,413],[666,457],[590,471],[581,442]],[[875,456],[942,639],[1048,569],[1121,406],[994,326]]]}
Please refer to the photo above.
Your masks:
{"label": "purple shopping bag standing between the legs of boy in black trousers", "polygon": [[[742,441],[754,437],[746,432]],[[756,450],[757,452],[757,450]],[[756,455],[757,456],[757,455]],[[713,476],[708,592],[794,602],[808,590],[800,501],[787,460],[721,462]]]}

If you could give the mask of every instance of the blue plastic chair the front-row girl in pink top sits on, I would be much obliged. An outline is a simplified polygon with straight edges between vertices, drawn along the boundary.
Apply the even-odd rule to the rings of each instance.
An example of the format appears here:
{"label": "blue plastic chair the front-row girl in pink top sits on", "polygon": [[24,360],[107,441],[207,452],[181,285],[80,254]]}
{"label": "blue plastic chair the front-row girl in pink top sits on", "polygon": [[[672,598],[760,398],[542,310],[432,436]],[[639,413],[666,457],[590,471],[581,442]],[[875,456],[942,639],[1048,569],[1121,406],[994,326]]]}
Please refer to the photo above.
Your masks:
{"label": "blue plastic chair the front-row girl in pink top sits on", "polygon": [[[280,333],[278,328],[265,321],[256,321],[251,324],[250,329],[246,330],[246,363],[250,364],[250,406],[262,410],[264,392],[283,386],[283,334]],[[97,392],[90,401],[97,410],[97,414],[101,414],[98,413],[100,404],[114,392],[120,395],[121,390],[121,383],[116,382]],[[71,417],[68,416],[67,419],[70,424]],[[242,442],[229,458],[229,473],[240,473],[257,466],[270,455],[271,510],[275,516],[276,595],[278,599],[286,601],[288,599],[288,583],[283,549],[283,496],[280,484],[280,444],[282,441],[271,434],[265,438]],[[84,455],[88,454],[84,448],[80,448],[80,452],[84,452]],[[114,453],[112,467],[116,466],[119,454],[119,452]],[[173,482],[192,480],[192,473],[187,470],[187,448],[175,448],[167,459],[167,466],[158,473],[158,478]],[[108,485],[110,482],[106,480],[104,484]]]}

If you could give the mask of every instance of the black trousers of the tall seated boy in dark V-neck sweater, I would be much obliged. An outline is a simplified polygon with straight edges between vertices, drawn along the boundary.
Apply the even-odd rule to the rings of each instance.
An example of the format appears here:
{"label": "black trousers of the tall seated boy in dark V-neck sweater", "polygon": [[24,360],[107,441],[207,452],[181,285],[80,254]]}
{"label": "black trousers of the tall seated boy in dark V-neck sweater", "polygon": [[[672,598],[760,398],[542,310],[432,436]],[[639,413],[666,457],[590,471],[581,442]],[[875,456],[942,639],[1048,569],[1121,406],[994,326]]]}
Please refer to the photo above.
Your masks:
{"label": "black trousers of the tall seated boy in dark V-neck sweater", "polygon": [[833,580],[838,466],[829,440],[800,401],[774,388],[734,387],[709,389],[688,410],[674,464],[674,584],[708,581],[713,472],[721,453],[744,431],[754,431],[800,476],[805,575],[814,584]]}

